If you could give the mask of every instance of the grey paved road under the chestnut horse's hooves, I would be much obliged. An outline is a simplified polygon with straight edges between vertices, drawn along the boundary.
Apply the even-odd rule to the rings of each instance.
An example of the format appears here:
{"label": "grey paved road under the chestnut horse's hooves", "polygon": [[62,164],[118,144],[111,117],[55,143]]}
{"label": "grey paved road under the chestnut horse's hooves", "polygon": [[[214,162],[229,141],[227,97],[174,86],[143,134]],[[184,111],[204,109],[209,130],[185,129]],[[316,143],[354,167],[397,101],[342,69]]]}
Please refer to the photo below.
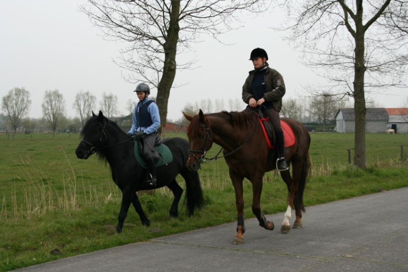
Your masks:
{"label": "grey paved road under the chestnut horse's hooves", "polygon": [[[307,207],[304,228],[281,234],[246,220],[128,244],[16,271],[408,271],[408,187]],[[291,220],[293,222],[293,219]]]}

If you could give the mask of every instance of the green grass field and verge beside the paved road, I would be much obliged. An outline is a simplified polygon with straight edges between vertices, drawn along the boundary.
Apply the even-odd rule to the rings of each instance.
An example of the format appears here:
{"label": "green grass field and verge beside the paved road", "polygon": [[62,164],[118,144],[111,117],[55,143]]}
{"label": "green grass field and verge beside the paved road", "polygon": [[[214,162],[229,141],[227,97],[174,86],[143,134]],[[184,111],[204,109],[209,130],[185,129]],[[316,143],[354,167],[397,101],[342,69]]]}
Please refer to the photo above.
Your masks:
{"label": "green grass field and verge beside the paved road", "polygon": [[[186,138],[180,133],[166,136]],[[313,176],[305,191],[306,206],[408,186],[408,134],[367,134],[366,171],[348,164],[354,134],[311,137]],[[78,134],[0,134],[0,272],[236,220],[234,188],[219,159],[199,171],[207,206],[194,217],[180,205],[179,218],[169,219],[172,196],[161,188],[140,197],[151,226],[143,227],[130,209],[123,233],[116,234],[121,193],[105,162],[96,156],[77,159],[79,141]],[[218,151],[214,146],[208,156]],[[264,182],[262,209],[284,211],[287,193],[280,176],[269,172]],[[181,178],[179,183],[184,187]],[[245,217],[253,217],[248,181],[244,198]],[[307,225],[307,213],[303,220]],[[231,230],[227,235],[234,234]]]}

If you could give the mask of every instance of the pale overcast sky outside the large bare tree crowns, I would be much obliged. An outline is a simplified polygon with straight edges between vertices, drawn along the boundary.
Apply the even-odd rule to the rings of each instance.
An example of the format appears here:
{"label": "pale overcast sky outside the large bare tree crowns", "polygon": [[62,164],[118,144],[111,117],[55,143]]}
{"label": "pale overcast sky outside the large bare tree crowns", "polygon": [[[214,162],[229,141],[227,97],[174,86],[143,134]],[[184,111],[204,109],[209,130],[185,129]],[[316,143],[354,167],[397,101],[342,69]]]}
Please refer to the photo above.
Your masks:
{"label": "pale overcast sky outside the large bare tree crowns", "polygon": [[[134,84],[126,83],[127,71],[113,63],[123,44],[104,40],[88,17],[78,11],[86,0],[21,0],[0,2],[0,97],[15,87],[31,93],[30,117],[42,116],[45,90],[58,89],[66,100],[66,114],[75,117],[72,104],[79,91],[90,91],[98,104],[103,92],[114,93],[119,111],[127,114],[126,101],[137,100]],[[221,36],[226,46],[203,36],[203,42],[192,44],[193,51],[184,58],[198,60],[201,68],[176,73],[171,90],[168,119],[179,119],[187,102],[203,99],[241,99],[241,88],[248,71],[253,48],[264,48],[269,64],[284,77],[287,93],[284,99],[305,95],[302,86],[318,81],[312,71],[299,63],[298,54],[283,33],[271,27],[282,21],[283,13],[269,13],[256,19],[242,18],[244,28]],[[152,96],[157,90],[152,90]],[[408,90],[393,89],[372,95],[379,106],[400,107]],[[243,105],[244,107],[244,105]]]}

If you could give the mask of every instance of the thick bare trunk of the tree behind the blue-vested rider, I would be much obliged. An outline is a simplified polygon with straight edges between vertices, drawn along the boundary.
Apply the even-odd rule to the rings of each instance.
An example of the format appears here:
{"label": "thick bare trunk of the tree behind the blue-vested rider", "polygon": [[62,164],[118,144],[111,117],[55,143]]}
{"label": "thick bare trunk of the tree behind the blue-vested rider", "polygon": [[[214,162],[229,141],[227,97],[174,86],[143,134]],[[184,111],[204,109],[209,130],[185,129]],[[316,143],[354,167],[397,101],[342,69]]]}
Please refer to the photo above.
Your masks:
{"label": "thick bare trunk of the tree behind the blue-vested rider", "polygon": [[169,29],[167,33],[166,43],[164,44],[164,67],[163,75],[160,79],[157,90],[157,104],[160,111],[160,127],[159,133],[164,137],[167,119],[167,106],[170,96],[170,89],[173,85],[177,53],[177,42],[179,41],[179,16],[180,16],[180,0],[171,1],[171,15]]}

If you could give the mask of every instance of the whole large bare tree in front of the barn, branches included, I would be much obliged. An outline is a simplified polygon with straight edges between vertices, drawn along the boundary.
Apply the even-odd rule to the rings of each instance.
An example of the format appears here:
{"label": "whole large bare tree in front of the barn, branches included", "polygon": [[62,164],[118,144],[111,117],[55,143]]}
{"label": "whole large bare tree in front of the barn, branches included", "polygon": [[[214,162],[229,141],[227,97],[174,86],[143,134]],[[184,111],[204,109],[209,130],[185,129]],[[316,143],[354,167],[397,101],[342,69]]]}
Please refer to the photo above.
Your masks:
{"label": "whole large bare tree in front of the barn, branches included", "polygon": [[366,168],[365,91],[402,87],[408,63],[408,2],[285,0],[290,39],[304,52],[304,62],[323,68],[340,96],[354,99],[354,165]]}

